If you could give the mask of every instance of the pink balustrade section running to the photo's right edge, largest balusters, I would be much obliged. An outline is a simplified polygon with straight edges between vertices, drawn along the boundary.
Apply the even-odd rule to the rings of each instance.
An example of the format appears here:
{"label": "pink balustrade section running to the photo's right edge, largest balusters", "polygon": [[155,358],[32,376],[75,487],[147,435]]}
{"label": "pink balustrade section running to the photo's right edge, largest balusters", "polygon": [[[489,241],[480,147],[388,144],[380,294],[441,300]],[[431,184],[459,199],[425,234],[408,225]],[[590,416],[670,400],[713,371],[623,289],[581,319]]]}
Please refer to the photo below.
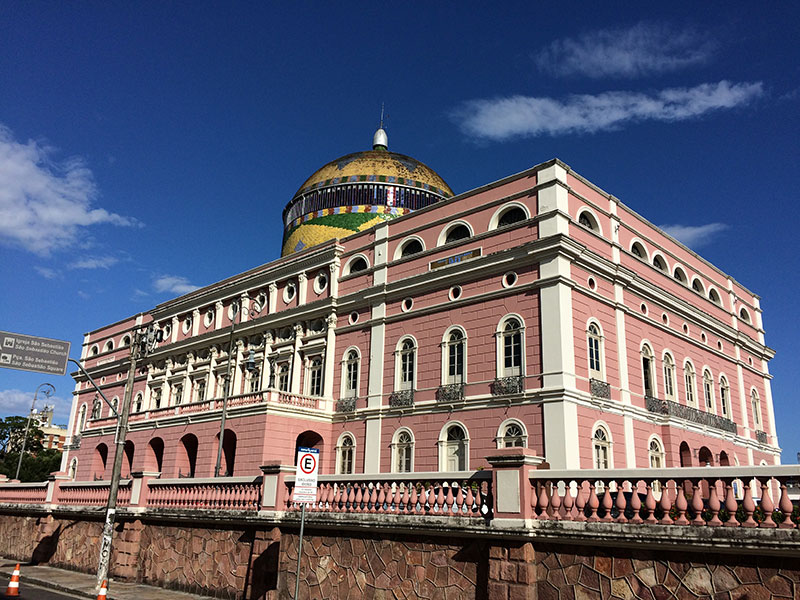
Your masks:
{"label": "pink balustrade section running to the photo's right edge, largest balusters", "polygon": [[796,529],[787,482],[796,465],[531,471],[530,514],[540,521]]}

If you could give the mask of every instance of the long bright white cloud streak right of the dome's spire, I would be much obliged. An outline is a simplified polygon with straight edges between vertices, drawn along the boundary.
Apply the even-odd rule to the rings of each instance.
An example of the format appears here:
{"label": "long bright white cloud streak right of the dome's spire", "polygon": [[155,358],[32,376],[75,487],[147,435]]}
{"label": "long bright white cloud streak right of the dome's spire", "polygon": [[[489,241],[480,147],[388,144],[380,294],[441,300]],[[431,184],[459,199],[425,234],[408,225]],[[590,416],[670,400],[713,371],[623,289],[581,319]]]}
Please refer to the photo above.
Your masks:
{"label": "long bright white cloud streak right of the dome's spire", "polygon": [[704,83],[651,94],[619,91],[565,100],[511,96],[464,102],[451,117],[468,135],[494,141],[594,133],[638,121],[682,121],[745,105],[763,94],[761,82]]}

